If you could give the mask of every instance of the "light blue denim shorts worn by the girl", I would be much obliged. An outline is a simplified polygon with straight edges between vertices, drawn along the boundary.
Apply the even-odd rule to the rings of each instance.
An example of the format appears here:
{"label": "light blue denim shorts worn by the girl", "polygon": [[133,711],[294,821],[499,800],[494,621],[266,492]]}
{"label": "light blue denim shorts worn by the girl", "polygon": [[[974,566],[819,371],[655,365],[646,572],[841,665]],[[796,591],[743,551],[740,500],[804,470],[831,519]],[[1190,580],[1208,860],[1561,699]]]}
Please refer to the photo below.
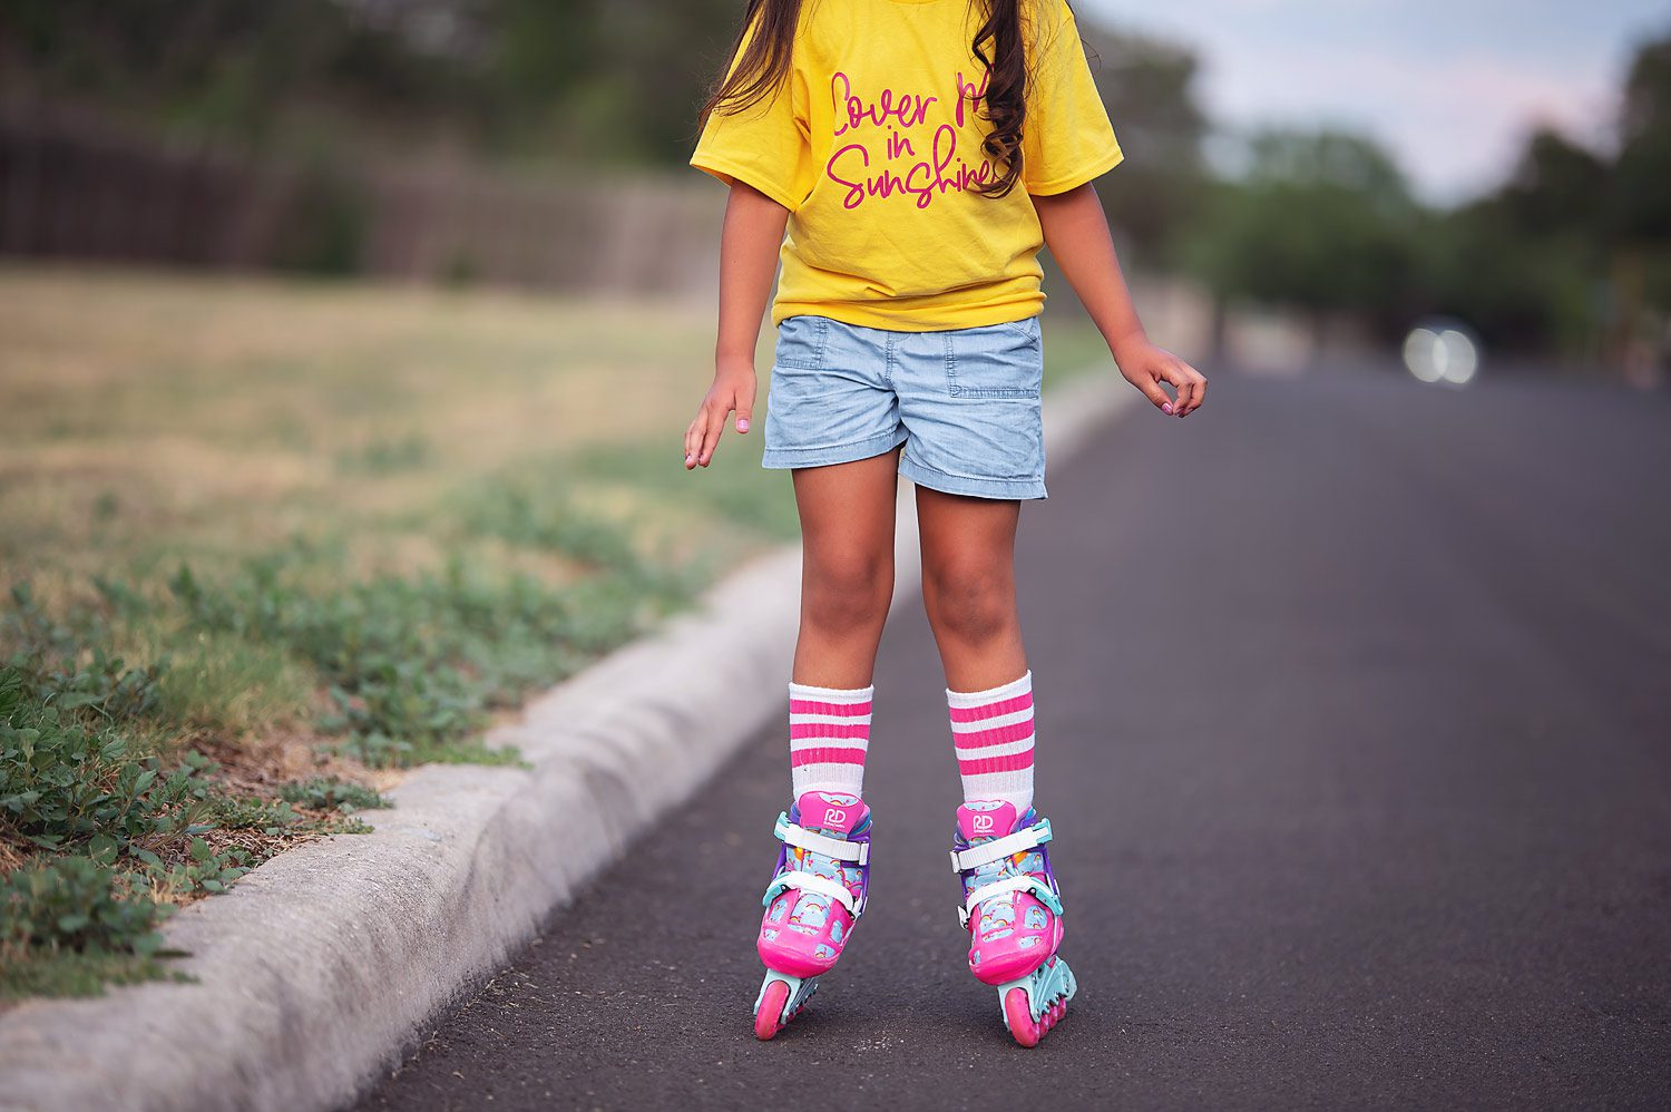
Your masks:
{"label": "light blue denim shorts worn by the girl", "polygon": [[892,451],[899,473],[952,495],[1044,498],[1039,318],[896,333],[790,316],[777,326],[765,467]]}

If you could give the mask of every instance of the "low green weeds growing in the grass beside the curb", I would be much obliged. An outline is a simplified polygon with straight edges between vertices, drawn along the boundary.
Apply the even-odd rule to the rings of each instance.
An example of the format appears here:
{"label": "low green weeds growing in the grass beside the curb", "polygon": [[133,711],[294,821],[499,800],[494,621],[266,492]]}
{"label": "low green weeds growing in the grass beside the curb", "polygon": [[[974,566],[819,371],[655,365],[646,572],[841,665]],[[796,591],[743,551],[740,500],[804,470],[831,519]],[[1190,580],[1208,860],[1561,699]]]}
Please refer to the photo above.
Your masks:
{"label": "low green weeds growing in the grass beside the curb", "polygon": [[[234,791],[192,742],[287,717],[368,766],[516,761],[483,744],[516,706],[683,605],[703,569],[640,555],[627,523],[526,483],[483,483],[434,523],[438,570],[354,575],[297,540],[201,575],[99,577],[0,612],[0,998],[167,975],[159,925],[307,833],[371,829],[361,784]],[[551,582],[461,552],[560,560]],[[129,662],[124,647],[142,662]],[[236,752],[236,747],[234,747]]]}

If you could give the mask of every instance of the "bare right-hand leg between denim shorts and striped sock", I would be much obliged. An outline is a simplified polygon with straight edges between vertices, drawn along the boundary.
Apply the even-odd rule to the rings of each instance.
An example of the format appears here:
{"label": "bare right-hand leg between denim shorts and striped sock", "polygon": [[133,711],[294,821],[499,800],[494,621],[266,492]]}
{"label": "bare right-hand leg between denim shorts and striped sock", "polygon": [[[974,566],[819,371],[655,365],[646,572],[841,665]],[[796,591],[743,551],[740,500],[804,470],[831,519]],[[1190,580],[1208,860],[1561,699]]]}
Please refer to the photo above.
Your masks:
{"label": "bare right-hand leg between denim shorts and striped sock", "polygon": [[1016,615],[1019,518],[1019,502],[917,487],[922,605],[952,691],[986,691],[1028,671]]}

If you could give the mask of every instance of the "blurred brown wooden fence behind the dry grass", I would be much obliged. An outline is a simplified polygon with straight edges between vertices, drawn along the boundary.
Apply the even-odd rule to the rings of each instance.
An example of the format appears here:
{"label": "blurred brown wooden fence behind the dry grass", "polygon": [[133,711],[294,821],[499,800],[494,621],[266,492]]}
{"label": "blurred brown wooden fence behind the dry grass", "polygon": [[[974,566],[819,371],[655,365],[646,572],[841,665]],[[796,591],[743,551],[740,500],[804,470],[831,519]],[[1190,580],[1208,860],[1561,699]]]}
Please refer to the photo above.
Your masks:
{"label": "blurred brown wooden fence behind the dry grass", "polygon": [[695,177],[272,166],[0,114],[0,256],[13,259],[700,291],[722,207]]}

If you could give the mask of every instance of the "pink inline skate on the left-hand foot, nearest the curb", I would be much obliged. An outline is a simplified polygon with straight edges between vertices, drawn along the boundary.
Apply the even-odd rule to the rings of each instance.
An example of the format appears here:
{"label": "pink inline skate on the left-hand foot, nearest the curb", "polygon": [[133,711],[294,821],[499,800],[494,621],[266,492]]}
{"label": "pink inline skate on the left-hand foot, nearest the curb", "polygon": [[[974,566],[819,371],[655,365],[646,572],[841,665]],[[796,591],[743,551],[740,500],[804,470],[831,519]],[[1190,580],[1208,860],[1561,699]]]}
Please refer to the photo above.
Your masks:
{"label": "pink inline skate on the left-hand foot, nearest the curb", "polygon": [[770,1038],[812,998],[864,913],[871,878],[871,808],[859,796],[809,791],[777,816],[782,841],[765,890],[754,1033]]}

